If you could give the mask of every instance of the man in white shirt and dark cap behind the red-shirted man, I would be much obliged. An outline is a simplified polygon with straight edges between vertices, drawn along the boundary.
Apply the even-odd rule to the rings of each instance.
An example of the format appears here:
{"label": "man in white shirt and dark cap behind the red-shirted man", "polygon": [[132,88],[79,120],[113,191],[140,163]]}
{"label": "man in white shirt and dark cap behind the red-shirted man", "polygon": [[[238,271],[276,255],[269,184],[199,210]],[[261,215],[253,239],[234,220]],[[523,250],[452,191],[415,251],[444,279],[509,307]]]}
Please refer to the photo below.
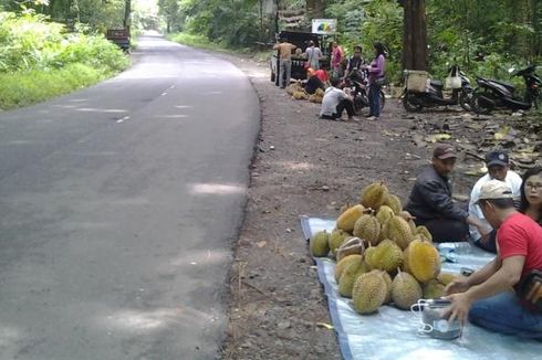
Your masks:
{"label": "man in white shirt and dark cap behind the red-shirted man", "polygon": [[509,169],[509,158],[508,153],[503,150],[492,150],[486,155],[486,167],[488,168],[488,173],[478,179],[478,181],[472,187],[472,191],[470,192],[469,199],[469,214],[477,218],[481,223],[483,223],[491,232],[489,232],[486,236],[482,236],[476,226],[470,225],[470,240],[475,243],[475,245],[492,252],[497,253],[496,247],[496,234],[497,231],[491,229],[489,223],[483,219],[482,211],[480,207],[478,207],[478,195],[480,194],[481,187],[488,182],[489,180],[500,180],[504,181],[510,189],[512,189],[512,194],[514,199],[520,198],[521,191],[521,177],[514,171]]}

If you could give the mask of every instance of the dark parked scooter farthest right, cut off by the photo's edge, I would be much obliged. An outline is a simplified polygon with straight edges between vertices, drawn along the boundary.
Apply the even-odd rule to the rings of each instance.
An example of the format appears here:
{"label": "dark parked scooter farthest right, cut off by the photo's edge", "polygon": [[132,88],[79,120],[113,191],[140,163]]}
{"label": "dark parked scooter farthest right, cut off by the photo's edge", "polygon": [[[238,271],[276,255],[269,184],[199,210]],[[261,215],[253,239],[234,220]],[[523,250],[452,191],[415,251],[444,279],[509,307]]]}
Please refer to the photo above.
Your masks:
{"label": "dark parked scooter farthest right, cut off by the photo's edge", "polygon": [[534,73],[536,65],[513,72],[511,76],[522,76],[525,82],[523,98],[514,97],[515,88],[511,84],[491,78],[477,77],[478,87],[472,94],[472,109],[477,114],[489,114],[493,109],[529,110],[533,105],[539,107],[538,97],[542,80]]}

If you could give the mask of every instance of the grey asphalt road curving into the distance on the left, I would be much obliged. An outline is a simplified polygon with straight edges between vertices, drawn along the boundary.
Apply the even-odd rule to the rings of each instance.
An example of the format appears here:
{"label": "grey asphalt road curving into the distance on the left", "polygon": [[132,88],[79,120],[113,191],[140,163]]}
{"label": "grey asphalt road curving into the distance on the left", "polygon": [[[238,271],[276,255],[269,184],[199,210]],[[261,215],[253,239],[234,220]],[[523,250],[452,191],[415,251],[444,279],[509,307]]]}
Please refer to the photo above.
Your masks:
{"label": "grey asphalt road curving into the distance on the left", "polygon": [[0,359],[212,359],[258,98],[146,36],[91,88],[0,113]]}

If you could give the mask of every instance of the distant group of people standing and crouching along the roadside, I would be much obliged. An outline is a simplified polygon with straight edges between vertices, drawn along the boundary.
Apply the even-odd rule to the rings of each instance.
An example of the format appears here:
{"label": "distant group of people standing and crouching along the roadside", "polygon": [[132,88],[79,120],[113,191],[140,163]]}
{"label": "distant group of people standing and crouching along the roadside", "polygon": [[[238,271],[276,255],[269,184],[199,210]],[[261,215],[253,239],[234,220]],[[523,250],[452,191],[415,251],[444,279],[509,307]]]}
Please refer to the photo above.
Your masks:
{"label": "distant group of people standing and crouching along the roadside", "polygon": [[[386,55],[382,43],[375,43],[373,47],[375,56],[369,64],[366,64],[362,57],[362,47],[354,46],[354,54],[347,60],[346,66],[343,66],[345,63],[344,52],[336,41],[332,42],[331,76],[329,76],[325,68],[321,68],[323,53],[313,41],[309,42],[309,46],[303,54],[294,44],[289,43],[288,39],[281,39],[281,42],[273,46],[273,49],[279,51],[280,86],[284,88],[290,84],[292,72],[291,55],[293,51],[298,51],[306,59],[308,81],[305,83],[305,92],[314,94],[317,88],[324,91],[320,117],[336,120],[341,119],[346,110],[348,119],[357,120],[354,110],[354,99],[350,93],[344,91],[345,78],[355,75],[357,72],[365,71],[368,73],[369,88],[369,114],[367,119],[377,120],[381,116],[379,93],[382,87],[378,80],[385,76]],[[284,78],[283,75],[285,75]]]}

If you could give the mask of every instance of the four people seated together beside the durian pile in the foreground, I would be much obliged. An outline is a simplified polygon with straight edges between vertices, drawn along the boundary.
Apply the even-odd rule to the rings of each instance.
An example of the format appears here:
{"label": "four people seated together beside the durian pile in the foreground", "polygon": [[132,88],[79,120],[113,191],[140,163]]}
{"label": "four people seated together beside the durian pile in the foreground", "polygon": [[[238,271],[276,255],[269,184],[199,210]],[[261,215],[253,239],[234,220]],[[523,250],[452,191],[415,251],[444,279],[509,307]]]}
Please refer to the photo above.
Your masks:
{"label": "four people seated together beside the durian pile in the foreground", "polygon": [[405,209],[434,242],[470,241],[497,253],[493,261],[446,287],[449,320],[542,339],[542,167],[522,177],[503,150],[486,155],[488,173],[472,188],[468,205],[452,200],[449,174],[457,152],[438,144],[431,165],[416,179]]}

